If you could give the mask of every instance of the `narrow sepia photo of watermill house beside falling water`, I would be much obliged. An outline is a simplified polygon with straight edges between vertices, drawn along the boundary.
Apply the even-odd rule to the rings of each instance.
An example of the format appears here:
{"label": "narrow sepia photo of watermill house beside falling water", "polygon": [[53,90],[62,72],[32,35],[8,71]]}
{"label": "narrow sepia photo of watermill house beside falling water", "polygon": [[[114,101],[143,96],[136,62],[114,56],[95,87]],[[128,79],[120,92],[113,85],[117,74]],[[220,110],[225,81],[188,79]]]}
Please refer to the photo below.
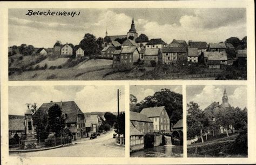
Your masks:
{"label": "narrow sepia photo of watermill house beside falling water", "polygon": [[130,156],[183,157],[181,85],[130,86]]}

